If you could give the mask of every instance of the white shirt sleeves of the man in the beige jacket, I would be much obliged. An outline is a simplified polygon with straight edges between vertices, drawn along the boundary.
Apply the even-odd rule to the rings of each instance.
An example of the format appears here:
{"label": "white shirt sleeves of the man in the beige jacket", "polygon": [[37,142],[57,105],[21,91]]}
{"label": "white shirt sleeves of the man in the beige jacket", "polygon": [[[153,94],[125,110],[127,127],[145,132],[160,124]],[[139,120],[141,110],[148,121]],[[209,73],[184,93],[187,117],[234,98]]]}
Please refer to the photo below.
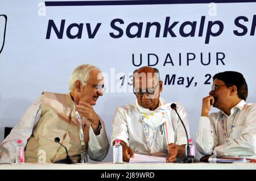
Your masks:
{"label": "white shirt sleeves of the man in the beige jacket", "polygon": [[[17,140],[22,140],[23,145],[27,145],[27,140],[30,138],[33,128],[41,117],[41,98],[42,96],[39,96],[39,98],[36,99],[36,101],[24,113],[19,123],[11,130],[9,136],[3,140],[0,145],[0,163],[14,163]],[[101,123],[103,123],[102,120]],[[102,124],[102,128],[100,134],[97,136],[93,132],[92,127],[90,127],[89,131],[90,139],[88,142],[87,153],[90,159],[95,161],[101,161],[104,159],[109,150],[109,142],[108,137],[106,136],[104,124]]]}

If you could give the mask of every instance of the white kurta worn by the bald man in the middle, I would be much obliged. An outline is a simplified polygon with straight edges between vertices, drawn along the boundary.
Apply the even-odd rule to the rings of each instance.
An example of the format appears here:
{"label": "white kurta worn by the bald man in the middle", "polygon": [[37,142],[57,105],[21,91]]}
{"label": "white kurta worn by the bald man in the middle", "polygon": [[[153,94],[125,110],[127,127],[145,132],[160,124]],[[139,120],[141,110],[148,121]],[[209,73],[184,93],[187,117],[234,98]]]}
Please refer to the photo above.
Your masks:
{"label": "white kurta worn by the bald man in the middle", "polygon": [[[166,104],[166,101],[160,98],[161,105]],[[177,112],[183,120],[189,136],[188,116],[185,108],[181,104],[177,104]],[[171,120],[171,140],[177,145],[187,144],[187,137],[184,131],[184,127],[181,124],[179,117],[174,110],[170,110],[166,113],[167,120]],[[149,130],[150,136],[152,136],[152,129]],[[147,155],[161,155],[166,157],[167,148],[164,141],[164,134],[162,126],[159,126],[156,130],[155,138],[152,142],[151,153],[150,147],[147,144],[147,138],[142,127],[141,113],[139,112],[135,104],[129,104],[127,106],[117,107],[113,120],[113,133],[111,137],[111,144],[114,140],[122,140],[126,142],[134,153],[147,154]]]}

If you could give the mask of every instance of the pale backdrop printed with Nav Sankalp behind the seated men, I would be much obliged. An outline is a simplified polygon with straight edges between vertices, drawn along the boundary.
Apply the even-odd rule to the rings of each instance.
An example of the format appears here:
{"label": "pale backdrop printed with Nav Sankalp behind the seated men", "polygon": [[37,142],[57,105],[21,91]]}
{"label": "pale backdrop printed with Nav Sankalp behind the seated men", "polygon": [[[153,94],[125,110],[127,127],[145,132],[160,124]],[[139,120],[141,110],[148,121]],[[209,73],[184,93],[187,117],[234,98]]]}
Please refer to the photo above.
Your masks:
{"label": "pale backdrop printed with Nav Sankalp behind the seated men", "polygon": [[[110,139],[115,108],[135,102],[127,77],[141,60],[141,66],[149,61],[160,70],[162,97],[185,106],[195,139],[210,75],[240,71],[249,85],[247,102],[256,102],[255,10],[256,2],[44,6],[42,1],[1,0],[0,15],[7,16],[7,23],[0,54],[0,141],[4,127],[14,127],[42,91],[68,92],[69,75],[85,63],[108,74],[108,91],[95,110],[105,120]],[[147,23],[154,22],[159,32],[152,26],[147,37]],[[97,24],[89,38],[88,30],[93,32]],[[0,16],[0,49],[4,30],[5,18]],[[187,80],[192,80],[189,86]],[[105,161],[111,160],[110,148]]]}

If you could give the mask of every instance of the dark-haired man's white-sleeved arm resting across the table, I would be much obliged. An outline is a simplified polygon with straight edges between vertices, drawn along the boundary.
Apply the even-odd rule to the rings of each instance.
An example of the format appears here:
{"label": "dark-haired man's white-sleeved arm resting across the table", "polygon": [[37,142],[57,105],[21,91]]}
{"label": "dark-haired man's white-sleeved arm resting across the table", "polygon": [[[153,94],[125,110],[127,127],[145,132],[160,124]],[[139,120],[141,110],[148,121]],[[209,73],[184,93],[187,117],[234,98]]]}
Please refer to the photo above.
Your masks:
{"label": "dark-haired man's white-sleeved arm resting across the table", "polygon": [[230,142],[214,148],[217,157],[250,157],[256,155],[256,105],[252,105],[245,113],[244,125],[234,127]]}

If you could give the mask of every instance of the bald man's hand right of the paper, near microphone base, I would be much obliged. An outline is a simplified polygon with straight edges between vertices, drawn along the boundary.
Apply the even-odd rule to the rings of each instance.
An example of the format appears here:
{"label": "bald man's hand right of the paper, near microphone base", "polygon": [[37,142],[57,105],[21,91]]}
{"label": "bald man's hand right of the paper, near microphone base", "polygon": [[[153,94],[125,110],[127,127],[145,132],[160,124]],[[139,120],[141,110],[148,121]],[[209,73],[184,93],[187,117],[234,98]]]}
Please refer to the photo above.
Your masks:
{"label": "bald man's hand right of the paper, near microphone base", "polygon": [[176,145],[171,143],[167,146],[168,148],[168,158],[166,162],[174,162],[177,157],[184,157],[185,155],[185,145]]}

